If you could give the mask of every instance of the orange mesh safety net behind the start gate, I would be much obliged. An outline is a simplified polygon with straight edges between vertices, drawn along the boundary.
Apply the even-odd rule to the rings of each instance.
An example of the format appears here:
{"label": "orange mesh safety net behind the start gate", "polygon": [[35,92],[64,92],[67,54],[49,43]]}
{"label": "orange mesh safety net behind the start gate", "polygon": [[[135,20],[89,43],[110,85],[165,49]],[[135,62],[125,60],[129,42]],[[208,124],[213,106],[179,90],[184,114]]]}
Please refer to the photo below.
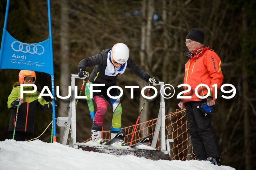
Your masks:
{"label": "orange mesh safety net behind the start gate", "polygon": [[[185,116],[185,110],[176,110],[175,113],[169,113],[165,115],[165,138],[173,139],[174,142],[170,143],[170,158],[177,160],[191,160],[195,159],[195,154],[192,153],[192,142],[188,132],[188,121]],[[157,124],[157,119],[149,120],[140,123],[136,127],[136,131],[132,140],[132,144],[140,142],[145,136],[154,136],[155,126]],[[124,142],[129,144],[131,142],[133,128],[135,125],[122,128],[126,136]],[[110,131],[102,131],[102,138],[105,141],[110,140]],[[90,139],[85,140],[88,142]],[[165,141],[166,142],[166,141]],[[148,143],[151,146],[152,143]],[[161,130],[159,131],[156,149],[161,150]]]}

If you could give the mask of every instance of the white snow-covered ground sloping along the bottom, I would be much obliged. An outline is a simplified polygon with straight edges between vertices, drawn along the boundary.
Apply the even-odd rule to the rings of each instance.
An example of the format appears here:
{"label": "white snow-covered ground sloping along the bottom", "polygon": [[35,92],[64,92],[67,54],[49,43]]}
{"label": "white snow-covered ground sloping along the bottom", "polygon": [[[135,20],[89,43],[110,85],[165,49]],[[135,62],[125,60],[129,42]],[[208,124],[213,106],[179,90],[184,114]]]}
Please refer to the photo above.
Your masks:
{"label": "white snow-covered ground sloping along the bottom", "polygon": [[0,141],[0,170],[234,170],[207,161],[153,161],[133,155],[88,152],[40,140]]}

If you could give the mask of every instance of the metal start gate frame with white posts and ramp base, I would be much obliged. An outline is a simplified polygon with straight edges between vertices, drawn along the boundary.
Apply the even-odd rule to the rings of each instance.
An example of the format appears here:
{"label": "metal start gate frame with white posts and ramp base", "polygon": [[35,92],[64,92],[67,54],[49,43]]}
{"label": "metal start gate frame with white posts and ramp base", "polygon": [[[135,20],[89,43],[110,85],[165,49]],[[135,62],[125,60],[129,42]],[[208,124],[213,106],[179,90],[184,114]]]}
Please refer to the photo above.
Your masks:
{"label": "metal start gate frame with white posts and ramp base", "polygon": [[[166,150],[166,141],[165,141],[165,101],[164,97],[161,95],[160,98],[160,108],[158,112],[158,119],[154,130],[153,141],[151,143],[151,147],[156,148],[156,144],[158,142],[158,136],[160,137],[161,150],[125,150],[125,149],[112,149],[112,148],[97,148],[90,146],[80,146],[79,143],[76,142],[76,104],[75,100],[77,97],[77,87],[75,86],[75,79],[79,78],[76,74],[71,74],[71,97],[70,103],[67,107],[68,116],[67,117],[58,117],[57,125],[59,127],[65,127],[64,135],[62,139],[62,144],[67,145],[69,141],[69,146],[74,148],[82,148],[82,150],[86,151],[94,151],[94,152],[104,152],[110,153],[113,155],[135,155],[136,157],[144,157],[147,159],[159,160],[171,160],[169,157],[169,152]],[[161,94],[163,94],[164,82],[159,82],[161,86]],[[82,97],[81,97],[82,98]],[[68,137],[70,134],[70,137]],[[169,145],[169,143],[168,143]]]}

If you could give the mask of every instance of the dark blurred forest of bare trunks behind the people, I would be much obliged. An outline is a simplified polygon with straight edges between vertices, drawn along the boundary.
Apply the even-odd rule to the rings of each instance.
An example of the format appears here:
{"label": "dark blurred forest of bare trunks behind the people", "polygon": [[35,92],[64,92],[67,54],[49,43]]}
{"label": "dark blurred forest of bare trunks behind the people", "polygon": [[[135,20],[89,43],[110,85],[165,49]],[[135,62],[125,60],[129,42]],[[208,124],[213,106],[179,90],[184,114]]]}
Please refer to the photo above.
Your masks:
{"label": "dark blurred forest of bare trunks behind the people", "polygon": [[[185,37],[191,28],[205,32],[205,46],[210,46],[222,60],[223,84],[236,87],[231,99],[219,92],[212,125],[222,150],[222,164],[238,170],[256,168],[256,1],[253,0],[52,0],[52,40],[55,86],[61,96],[67,96],[70,74],[77,74],[81,59],[125,43],[132,59],[148,74],[176,89],[173,98],[166,99],[166,114],[178,109],[176,99],[183,83],[184,65],[188,58]],[[6,0],[0,2],[0,28],[4,25]],[[46,0],[11,0],[7,31],[24,43],[37,43],[49,38]],[[1,38],[1,37],[0,37]],[[88,68],[91,72],[93,67]],[[20,70],[0,71],[0,140],[8,139],[11,111],[7,98]],[[50,76],[36,72],[38,91],[50,88]],[[76,80],[80,89],[82,80]],[[146,82],[129,70],[118,77],[117,85],[140,86]],[[135,124],[144,99],[135,90],[121,97],[123,127]],[[84,95],[84,93],[83,93]],[[229,96],[225,94],[226,96]],[[50,98],[45,97],[46,100]],[[67,116],[69,100],[59,99],[56,117]],[[158,97],[148,100],[140,121],[157,118]],[[85,99],[76,108],[77,142],[91,135],[89,109]],[[40,135],[52,119],[52,112],[38,109],[34,137]],[[103,130],[110,130],[110,108],[104,118]],[[57,142],[63,128],[56,127]],[[40,138],[50,142],[50,128]],[[171,167],[170,167],[171,168]]]}

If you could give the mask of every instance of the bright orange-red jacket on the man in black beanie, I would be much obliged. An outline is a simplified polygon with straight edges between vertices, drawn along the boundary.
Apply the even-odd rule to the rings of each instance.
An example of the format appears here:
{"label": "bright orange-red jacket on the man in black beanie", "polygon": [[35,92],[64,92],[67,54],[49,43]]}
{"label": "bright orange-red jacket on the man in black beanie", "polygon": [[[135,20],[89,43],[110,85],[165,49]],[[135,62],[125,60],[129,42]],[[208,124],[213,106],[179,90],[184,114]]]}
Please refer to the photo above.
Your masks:
{"label": "bright orange-red jacket on the man in black beanie", "polygon": [[[215,96],[217,97],[223,80],[221,59],[219,56],[213,50],[209,49],[209,46],[185,53],[185,55],[188,56],[189,60],[185,64],[184,84],[189,84],[191,90],[184,93],[184,96],[191,96],[191,98],[183,98],[181,100],[183,104],[185,105],[188,101],[202,101],[195,94],[196,86],[200,84],[206,84],[210,88],[210,96],[207,98],[216,100]],[[217,93],[215,93],[214,84],[217,84]],[[187,89],[188,87],[184,86],[184,90]],[[199,96],[205,96],[207,94],[207,88],[205,86],[199,86],[197,94]]]}

